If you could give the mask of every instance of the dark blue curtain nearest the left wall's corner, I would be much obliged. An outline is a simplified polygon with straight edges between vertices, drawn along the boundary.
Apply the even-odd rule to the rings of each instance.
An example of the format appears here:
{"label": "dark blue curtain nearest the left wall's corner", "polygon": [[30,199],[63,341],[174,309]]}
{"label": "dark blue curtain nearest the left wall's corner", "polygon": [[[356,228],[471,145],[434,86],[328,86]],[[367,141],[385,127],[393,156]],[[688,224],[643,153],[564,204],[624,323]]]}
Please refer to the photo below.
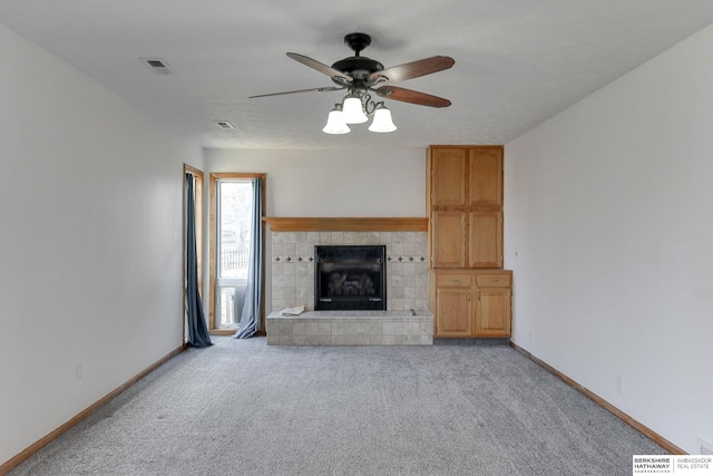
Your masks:
{"label": "dark blue curtain nearest the left wall's corner", "polygon": [[201,290],[198,289],[198,259],[196,254],[196,202],[193,174],[186,174],[186,327],[188,343],[193,347],[213,346],[205,324]]}

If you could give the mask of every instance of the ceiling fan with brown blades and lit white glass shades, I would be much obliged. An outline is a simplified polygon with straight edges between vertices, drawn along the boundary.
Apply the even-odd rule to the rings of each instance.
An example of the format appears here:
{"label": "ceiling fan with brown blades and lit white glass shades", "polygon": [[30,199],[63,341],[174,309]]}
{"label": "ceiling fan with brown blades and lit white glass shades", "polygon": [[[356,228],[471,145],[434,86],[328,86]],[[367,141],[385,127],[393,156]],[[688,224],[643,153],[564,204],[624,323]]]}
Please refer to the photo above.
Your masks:
{"label": "ceiling fan with brown blades and lit white glass shades", "polygon": [[[335,108],[332,110],[332,113],[340,113],[340,116],[342,116],[341,113],[343,111],[344,122],[346,124],[364,123],[368,120],[367,115],[371,114],[374,114],[374,122],[377,122],[380,110],[383,113],[388,113],[388,122],[391,123],[391,113],[389,111],[389,109],[384,106],[383,101],[372,101],[370,91],[383,98],[400,100],[403,103],[411,103],[419,106],[448,107],[451,105],[450,100],[448,99],[428,95],[426,93],[391,86],[391,84],[449,69],[456,64],[453,58],[450,58],[448,56],[432,56],[430,58],[424,58],[384,69],[381,62],[360,55],[361,51],[364,50],[364,48],[371,45],[371,37],[369,35],[346,35],[344,37],[344,43],[354,51],[354,56],[341,59],[334,62],[332,66],[324,65],[320,61],[316,61],[303,55],[299,55],[296,52],[287,54],[287,56],[295,61],[299,61],[329,76],[336,86],[272,93],[251,96],[250,98],[252,99],[267,96],[280,96],[295,93],[325,93],[346,89],[348,95],[344,98],[344,103],[342,105],[335,105]],[[331,118],[332,114],[330,113],[330,120]],[[329,132],[326,130],[329,126],[330,123],[328,123],[328,126],[325,126],[325,129],[323,130],[330,134],[343,134],[345,132],[349,132],[348,127],[344,130],[345,126],[341,127],[341,132]],[[372,127],[374,127],[373,124]],[[374,128],[372,127],[370,127],[370,130],[374,130]],[[390,130],[374,132],[395,130],[395,126],[393,126],[393,123],[391,123],[390,126],[387,125],[382,126],[382,128],[383,127]]]}

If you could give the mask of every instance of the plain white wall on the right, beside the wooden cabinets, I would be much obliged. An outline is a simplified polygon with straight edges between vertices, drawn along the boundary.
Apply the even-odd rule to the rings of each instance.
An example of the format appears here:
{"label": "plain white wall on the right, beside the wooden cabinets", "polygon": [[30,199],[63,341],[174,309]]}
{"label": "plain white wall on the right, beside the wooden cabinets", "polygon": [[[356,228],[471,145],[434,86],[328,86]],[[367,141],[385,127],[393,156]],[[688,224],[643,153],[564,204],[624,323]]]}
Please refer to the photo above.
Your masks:
{"label": "plain white wall on the right, beside the wooden cabinets", "polygon": [[713,441],[712,49],[709,27],[505,147],[514,341],[688,453]]}

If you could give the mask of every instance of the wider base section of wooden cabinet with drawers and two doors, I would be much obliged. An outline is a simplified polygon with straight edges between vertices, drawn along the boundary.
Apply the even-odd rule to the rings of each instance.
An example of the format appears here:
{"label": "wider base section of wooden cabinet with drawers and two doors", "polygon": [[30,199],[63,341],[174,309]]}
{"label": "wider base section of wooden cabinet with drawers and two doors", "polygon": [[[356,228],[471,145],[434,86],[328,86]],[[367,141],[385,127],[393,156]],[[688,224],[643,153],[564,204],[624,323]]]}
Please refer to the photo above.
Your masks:
{"label": "wider base section of wooden cabinet with drawers and two doors", "polygon": [[431,269],[429,283],[437,338],[510,337],[511,271]]}

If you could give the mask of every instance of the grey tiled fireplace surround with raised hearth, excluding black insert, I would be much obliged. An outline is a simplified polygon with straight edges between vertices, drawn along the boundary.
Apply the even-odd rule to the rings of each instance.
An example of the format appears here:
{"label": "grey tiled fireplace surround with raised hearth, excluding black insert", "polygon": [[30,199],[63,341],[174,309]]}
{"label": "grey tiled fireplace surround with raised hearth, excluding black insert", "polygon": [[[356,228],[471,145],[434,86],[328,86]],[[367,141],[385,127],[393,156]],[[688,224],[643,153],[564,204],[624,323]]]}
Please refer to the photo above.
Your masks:
{"label": "grey tiled fireplace surround with raised hearth, excluding black insert", "polygon": [[[272,232],[272,310],[268,344],[430,344],[428,235],[424,231]],[[316,245],[384,245],[385,311],[314,311]],[[301,307],[297,317],[285,308]]]}

